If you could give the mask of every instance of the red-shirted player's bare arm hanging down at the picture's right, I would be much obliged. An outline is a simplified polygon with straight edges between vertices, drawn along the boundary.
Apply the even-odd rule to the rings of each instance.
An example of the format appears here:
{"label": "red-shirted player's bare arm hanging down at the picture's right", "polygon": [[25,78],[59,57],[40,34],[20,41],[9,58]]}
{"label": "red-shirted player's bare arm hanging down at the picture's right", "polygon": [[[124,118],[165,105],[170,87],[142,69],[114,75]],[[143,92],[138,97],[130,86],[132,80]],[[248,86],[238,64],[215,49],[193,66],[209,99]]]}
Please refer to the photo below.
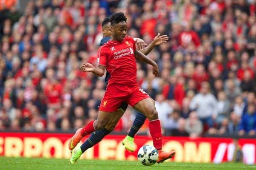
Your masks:
{"label": "red-shirted player's bare arm hanging down at the picture's right", "polygon": [[158,77],[159,76],[159,70],[158,70],[158,66],[157,66],[157,63],[154,62],[151,58],[145,56],[145,54],[143,54],[142,52],[138,51],[138,50],[135,50],[134,52],[134,55],[136,57],[136,59],[138,61],[141,61],[141,62],[145,62],[147,64],[150,64],[153,66],[153,70],[152,70],[152,73]]}

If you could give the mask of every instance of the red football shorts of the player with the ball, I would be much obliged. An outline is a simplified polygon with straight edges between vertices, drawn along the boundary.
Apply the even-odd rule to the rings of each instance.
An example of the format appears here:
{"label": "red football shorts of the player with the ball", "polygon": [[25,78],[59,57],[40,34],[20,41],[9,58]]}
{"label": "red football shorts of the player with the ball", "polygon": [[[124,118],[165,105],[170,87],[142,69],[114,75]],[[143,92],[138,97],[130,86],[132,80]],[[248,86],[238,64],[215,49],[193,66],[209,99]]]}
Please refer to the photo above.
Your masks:
{"label": "red football shorts of the player with the ball", "polygon": [[108,85],[100,103],[99,111],[117,111],[122,102],[127,102],[133,107],[141,100],[147,98],[150,98],[150,96],[138,85]]}

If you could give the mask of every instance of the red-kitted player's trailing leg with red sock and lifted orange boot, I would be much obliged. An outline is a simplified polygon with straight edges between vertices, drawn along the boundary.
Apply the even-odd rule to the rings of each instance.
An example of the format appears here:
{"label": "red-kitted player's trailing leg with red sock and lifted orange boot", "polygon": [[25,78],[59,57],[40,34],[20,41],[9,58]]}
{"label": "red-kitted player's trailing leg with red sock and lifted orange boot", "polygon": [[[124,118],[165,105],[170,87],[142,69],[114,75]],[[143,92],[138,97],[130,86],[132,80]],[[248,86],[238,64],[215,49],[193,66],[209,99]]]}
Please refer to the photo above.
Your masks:
{"label": "red-kitted player's trailing leg with red sock and lifted orange boot", "polygon": [[110,112],[99,111],[99,116],[96,120],[90,121],[83,128],[78,129],[75,135],[72,136],[68,144],[69,149],[73,150],[84,136],[94,132],[95,130],[103,129],[111,119],[111,115],[112,114]]}

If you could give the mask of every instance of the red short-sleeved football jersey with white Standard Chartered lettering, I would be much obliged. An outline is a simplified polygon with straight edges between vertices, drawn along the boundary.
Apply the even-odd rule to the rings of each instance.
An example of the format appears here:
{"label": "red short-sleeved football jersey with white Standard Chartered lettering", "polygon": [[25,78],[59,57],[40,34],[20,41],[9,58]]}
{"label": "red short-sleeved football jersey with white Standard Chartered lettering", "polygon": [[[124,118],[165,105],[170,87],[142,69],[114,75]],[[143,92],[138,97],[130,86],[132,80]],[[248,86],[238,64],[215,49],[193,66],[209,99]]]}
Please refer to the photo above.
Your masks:
{"label": "red short-sleeved football jersey with white Standard Chartered lettering", "polygon": [[135,41],[128,36],[122,42],[109,40],[99,48],[99,65],[104,65],[111,75],[108,85],[112,83],[137,85],[134,50],[136,50]]}

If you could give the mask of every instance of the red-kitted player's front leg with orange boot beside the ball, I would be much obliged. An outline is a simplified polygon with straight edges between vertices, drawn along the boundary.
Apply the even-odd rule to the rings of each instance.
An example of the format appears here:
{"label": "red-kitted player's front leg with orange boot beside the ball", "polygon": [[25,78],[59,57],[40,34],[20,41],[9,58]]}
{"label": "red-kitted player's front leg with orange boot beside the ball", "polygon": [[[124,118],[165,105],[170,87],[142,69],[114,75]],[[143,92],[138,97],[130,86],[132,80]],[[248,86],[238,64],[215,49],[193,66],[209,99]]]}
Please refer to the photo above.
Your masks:
{"label": "red-kitted player's front leg with orange boot beside the ball", "polygon": [[134,108],[143,113],[149,119],[149,131],[153,139],[154,147],[159,152],[157,163],[162,163],[166,159],[170,159],[175,155],[175,151],[162,151],[162,133],[161,125],[158,119],[158,113],[154,105],[154,100],[151,98],[142,99]]}

